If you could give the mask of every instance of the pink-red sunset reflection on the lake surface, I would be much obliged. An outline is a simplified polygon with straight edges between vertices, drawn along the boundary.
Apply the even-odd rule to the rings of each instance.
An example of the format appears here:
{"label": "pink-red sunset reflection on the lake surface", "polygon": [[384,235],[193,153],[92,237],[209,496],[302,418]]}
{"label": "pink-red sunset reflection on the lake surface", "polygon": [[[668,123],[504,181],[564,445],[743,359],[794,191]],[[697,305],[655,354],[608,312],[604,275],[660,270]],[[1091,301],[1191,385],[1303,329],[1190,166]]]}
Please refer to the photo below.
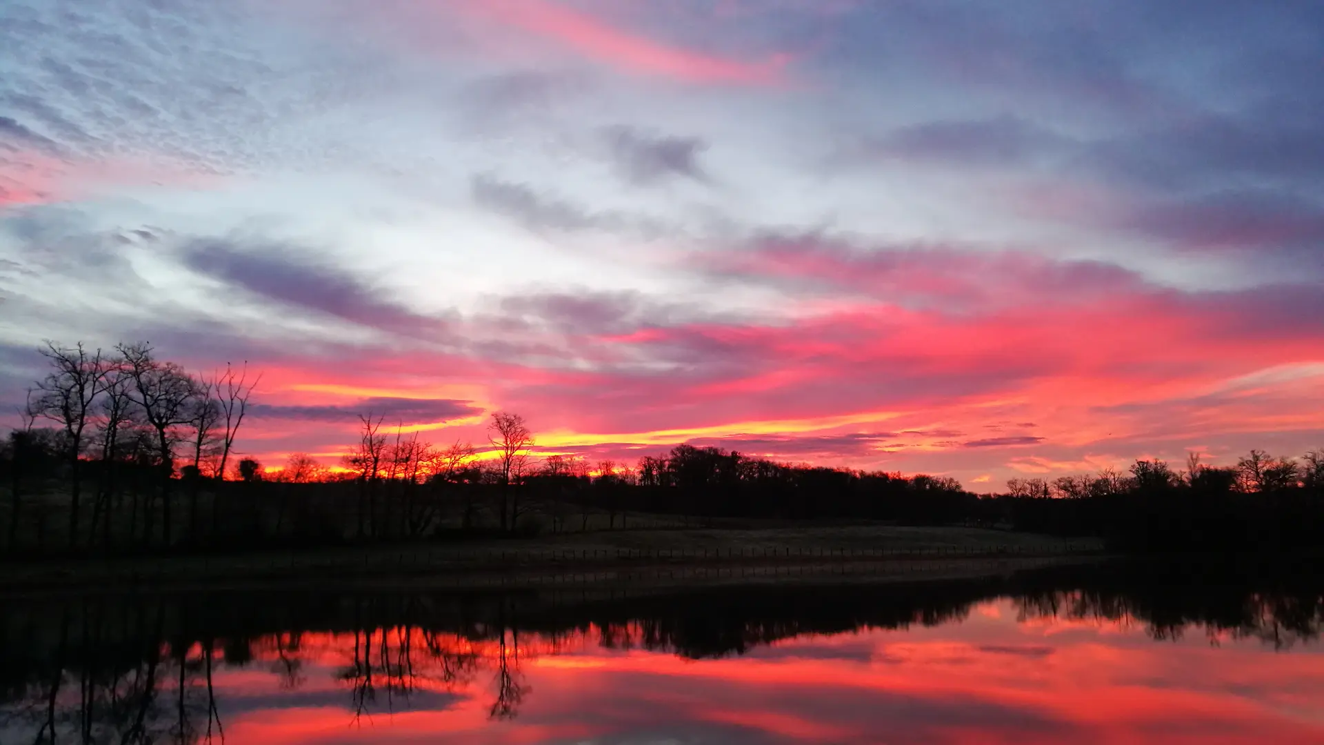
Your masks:
{"label": "pink-red sunset reflection on the lake surface", "polygon": [[[1317,648],[1274,654],[1200,632],[1156,643],[1131,622],[1014,620],[1009,601],[963,623],[793,638],[744,658],[638,648],[638,624],[469,640],[392,628],[253,644],[269,672],[216,676],[228,736],[254,745],[552,742],[678,736],[775,742],[1305,744],[1324,736]],[[609,643],[616,648],[606,648]],[[861,647],[863,646],[863,648]],[[863,654],[862,654],[863,652]],[[294,661],[295,688],[282,685]],[[524,691],[491,721],[502,665]],[[371,704],[352,701],[371,687]],[[357,691],[357,693],[356,693]],[[316,693],[319,704],[301,696]],[[289,703],[282,703],[290,697]],[[224,701],[246,701],[226,712]],[[347,725],[354,721],[354,726]],[[741,734],[745,733],[745,734]]]}

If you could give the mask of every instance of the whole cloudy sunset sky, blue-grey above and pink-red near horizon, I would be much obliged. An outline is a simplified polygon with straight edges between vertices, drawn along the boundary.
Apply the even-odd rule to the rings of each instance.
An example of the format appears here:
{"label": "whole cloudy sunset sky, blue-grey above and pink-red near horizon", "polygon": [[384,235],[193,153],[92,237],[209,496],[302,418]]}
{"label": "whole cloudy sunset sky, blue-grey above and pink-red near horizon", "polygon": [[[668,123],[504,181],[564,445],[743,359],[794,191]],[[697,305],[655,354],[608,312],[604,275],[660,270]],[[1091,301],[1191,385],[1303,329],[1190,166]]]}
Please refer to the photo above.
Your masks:
{"label": "whole cloudy sunset sky, blue-grey above and pink-red near horizon", "polygon": [[1324,444],[1324,5],[0,0],[0,406],[42,339],[539,453],[968,488]]}

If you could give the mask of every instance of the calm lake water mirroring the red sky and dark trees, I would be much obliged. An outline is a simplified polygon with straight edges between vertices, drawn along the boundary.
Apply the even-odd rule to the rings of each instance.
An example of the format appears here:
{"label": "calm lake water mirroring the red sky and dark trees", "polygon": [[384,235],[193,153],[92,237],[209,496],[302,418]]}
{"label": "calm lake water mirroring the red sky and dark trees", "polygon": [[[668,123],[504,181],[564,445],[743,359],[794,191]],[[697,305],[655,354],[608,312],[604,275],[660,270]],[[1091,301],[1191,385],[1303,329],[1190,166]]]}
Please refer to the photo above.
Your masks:
{"label": "calm lake water mirroring the red sky and dark trees", "polygon": [[13,602],[0,742],[1321,744],[1307,577]]}

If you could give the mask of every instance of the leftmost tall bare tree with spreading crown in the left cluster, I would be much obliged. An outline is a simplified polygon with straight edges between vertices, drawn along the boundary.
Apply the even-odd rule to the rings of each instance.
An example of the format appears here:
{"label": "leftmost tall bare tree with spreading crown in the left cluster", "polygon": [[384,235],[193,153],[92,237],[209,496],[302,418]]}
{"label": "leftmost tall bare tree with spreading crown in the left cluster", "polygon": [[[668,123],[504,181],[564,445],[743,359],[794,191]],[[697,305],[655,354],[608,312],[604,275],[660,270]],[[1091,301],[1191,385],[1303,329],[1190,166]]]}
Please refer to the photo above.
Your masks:
{"label": "leftmost tall bare tree with spreading crown in the left cluster", "polygon": [[106,384],[110,369],[102,362],[101,350],[89,354],[82,342],[73,347],[46,342],[40,350],[52,371],[37,383],[33,411],[60,424],[65,431],[69,452],[69,546],[78,541],[79,496],[82,475],[83,431],[91,423],[93,406]]}

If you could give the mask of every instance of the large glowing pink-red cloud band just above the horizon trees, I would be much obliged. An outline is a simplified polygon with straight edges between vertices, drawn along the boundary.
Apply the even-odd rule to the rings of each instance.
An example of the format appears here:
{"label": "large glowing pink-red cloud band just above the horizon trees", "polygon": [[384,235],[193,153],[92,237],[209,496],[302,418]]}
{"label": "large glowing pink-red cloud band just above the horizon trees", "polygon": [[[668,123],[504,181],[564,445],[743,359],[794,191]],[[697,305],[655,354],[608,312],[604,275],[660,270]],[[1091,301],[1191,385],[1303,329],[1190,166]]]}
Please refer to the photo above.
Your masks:
{"label": "large glowing pink-red cloud band just above the horizon trees", "polygon": [[[286,361],[265,395],[307,407],[406,398],[515,410],[548,452],[634,460],[694,440],[990,484],[1027,467],[1124,465],[1155,443],[1206,435],[1250,448],[1264,432],[1319,432],[1324,415],[1324,334],[1319,323],[1283,322],[1301,308],[1296,288],[1185,293],[1111,266],[1017,253],[765,257],[749,272],[794,265],[829,288],[859,289],[785,318],[643,313],[606,331],[522,325],[510,343],[499,319],[458,319],[458,338],[482,342],[466,353]],[[928,282],[941,265],[952,266],[949,282]],[[894,288],[974,300],[906,308],[888,300]],[[482,441],[481,419],[425,436]],[[269,445],[322,437],[303,449],[334,451],[352,426],[301,435],[273,423]]]}

